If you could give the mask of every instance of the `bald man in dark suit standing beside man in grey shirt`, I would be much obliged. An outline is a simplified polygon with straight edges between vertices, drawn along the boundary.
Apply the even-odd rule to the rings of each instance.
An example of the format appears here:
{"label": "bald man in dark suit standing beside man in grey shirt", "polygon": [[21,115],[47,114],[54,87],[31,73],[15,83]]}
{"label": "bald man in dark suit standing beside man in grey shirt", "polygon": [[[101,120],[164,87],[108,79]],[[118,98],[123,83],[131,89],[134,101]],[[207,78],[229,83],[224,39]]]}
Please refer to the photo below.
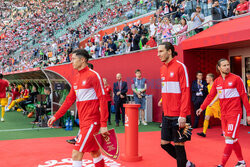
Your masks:
{"label": "bald man in dark suit standing beside man in grey shirt", "polygon": [[121,120],[120,110],[122,110],[122,123],[125,123],[125,108],[123,104],[126,103],[126,93],[128,91],[127,82],[122,81],[122,75],[116,74],[117,82],[114,83],[114,102],[115,102],[115,122],[116,126],[119,126]]}

